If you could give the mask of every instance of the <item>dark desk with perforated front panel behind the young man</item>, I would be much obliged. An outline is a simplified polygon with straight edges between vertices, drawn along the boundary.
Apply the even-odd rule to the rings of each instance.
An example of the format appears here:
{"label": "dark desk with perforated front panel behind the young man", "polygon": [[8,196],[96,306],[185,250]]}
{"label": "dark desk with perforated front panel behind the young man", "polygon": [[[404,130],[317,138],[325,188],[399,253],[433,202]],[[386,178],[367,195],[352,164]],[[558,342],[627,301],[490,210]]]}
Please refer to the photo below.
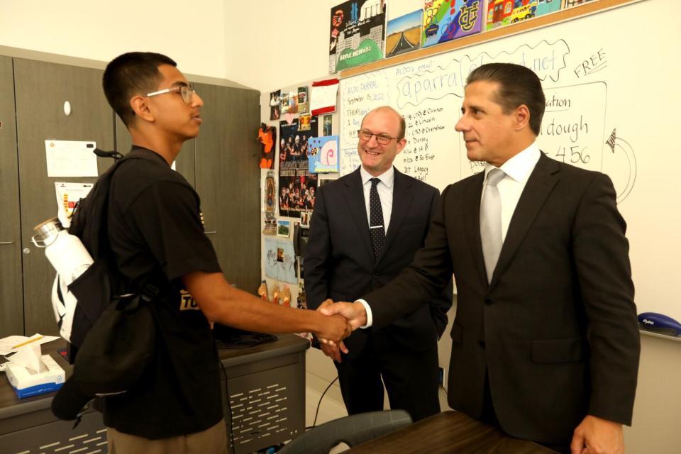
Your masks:
{"label": "dark desk with perforated front panel behind the young man", "polygon": [[[305,430],[305,350],[310,343],[293,334],[277,337],[276,342],[251,348],[218,350],[226,372],[222,374],[225,421],[228,427],[234,421],[235,446],[231,453],[267,448]],[[46,343],[43,354],[49,353],[70,377],[72,365],[56,353],[64,347],[62,340]],[[52,415],[52,397],[54,393],[18,399],[9,380],[0,373],[0,453],[106,453],[106,428],[101,414],[90,411],[73,429],[73,421],[59,421]],[[251,414],[252,406],[258,408],[268,398],[271,404],[259,407],[263,409],[259,414]],[[253,404],[256,399],[261,402]],[[247,410],[252,416],[250,421],[240,423],[248,417],[243,416]],[[259,418],[269,425],[260,427]],[[255,429],[251,421],[259,422]]]}

